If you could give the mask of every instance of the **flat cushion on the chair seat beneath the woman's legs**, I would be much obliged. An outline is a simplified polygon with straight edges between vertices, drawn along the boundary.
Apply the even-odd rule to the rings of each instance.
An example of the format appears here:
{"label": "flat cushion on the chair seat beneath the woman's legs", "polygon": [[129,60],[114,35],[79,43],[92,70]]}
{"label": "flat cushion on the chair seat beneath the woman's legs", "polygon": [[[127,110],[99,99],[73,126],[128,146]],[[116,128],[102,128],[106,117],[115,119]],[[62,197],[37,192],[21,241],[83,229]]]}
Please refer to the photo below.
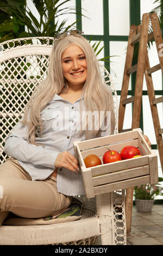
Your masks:
{"label": "flat cushion on the chair seat beneath the woman's legs", "polygon": [[3,225],[48,225],[77,221],[82,217],[82,206],[83,202],[81,200],[73,198],[69,208],[58,215],[44,218],[23,218],[15,215],[15,217],[8,217]]}

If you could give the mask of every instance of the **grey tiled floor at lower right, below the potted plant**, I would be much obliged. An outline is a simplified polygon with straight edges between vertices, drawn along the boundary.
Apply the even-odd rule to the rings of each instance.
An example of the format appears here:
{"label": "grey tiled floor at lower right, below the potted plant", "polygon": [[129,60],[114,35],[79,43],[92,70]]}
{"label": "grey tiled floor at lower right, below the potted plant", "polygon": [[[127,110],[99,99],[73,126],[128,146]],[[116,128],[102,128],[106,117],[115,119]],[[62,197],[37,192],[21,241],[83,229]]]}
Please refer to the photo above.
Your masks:
{"label": "grey tiled floor at lower right, below the potted plant", "polygon": [[163,204],[154,204],[152,212],[137,212],[133,205],[127,245],[163,245]]}

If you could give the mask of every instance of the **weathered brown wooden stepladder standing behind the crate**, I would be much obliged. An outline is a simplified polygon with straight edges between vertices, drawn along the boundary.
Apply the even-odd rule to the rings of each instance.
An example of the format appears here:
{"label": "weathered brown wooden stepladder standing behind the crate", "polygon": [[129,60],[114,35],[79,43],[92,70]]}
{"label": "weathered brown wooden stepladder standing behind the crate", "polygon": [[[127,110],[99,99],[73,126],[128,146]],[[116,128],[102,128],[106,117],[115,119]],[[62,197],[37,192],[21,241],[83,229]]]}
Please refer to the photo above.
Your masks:
{"label": "weathered brown wooden stepladder standing behind the crate", "polygon": [[[148,33],[149,20],[151,19],[153,32]],[[132,129],[139,128],[140,126],[140,114],[141,114],[141,103],[142,103],[142,88],[143,88],[143,76],[145,74],[147,91],[149,102],[151,105],[151,112],[156,136],[156,142],[158,144],[159,156],[161,161],[161,167],[163,166],[163,143],[162,143],[162,133],[163,129],[160,128],[160,121],[156,103],[163,102],[163,97],[155,99],[155,93],[152,82],[152,72],[161,69],[163,74],[163,59],[159,56],[160,64],[150,68],[148,52],[147,52],[147,43],[149,41],[155,40],[156,48],[160,51],[160,44],[162,44],[162,36],[160,25],[158,21],[158,16],[156,14],[143,14],[142,16],[142,25],[130,27],[129,38],[128,38],[128,47],[126,54],[126,62],[124,66],[124,74],[122,81],[122,90],[121,90],[121,99],[119,107],[119,120],[118,120],[118,131],[124,132]],[[139,53],[137,58],[137,64],[133,65],[133,56],[134,56],[134,47],[135,43],[139,41]],[[162,45],[163,47],[163,45]],[[163,54],[162,54],[163,55]],[[136,71],[136,82],[135,82],[135,93],[134,96],[128,97],[128,87],[130,74]],[[133,118],[131,129],[123,130],[124,114],[126,110],[126,105],[133,102]],[[131,229],[131,217],[133,210],[133,194],[134,188],[127,188],[126,190],[126,222],[127,222],[127,233]]]}

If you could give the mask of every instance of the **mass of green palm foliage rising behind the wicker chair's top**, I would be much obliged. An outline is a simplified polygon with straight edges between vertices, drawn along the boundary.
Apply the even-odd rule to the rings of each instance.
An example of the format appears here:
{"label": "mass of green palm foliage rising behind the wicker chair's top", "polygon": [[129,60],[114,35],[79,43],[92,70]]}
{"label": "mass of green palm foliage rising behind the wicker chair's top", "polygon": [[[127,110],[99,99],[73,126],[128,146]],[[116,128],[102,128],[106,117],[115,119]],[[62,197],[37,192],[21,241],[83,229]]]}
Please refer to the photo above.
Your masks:
{"label": "mass of green palm foliage rising behind the wicker chair's top", "polygon": [[[1,0],[0,3],[0,37],[1,41],[30,36],[55,36],[58,33],[74,29],[78,21],[66,26],[65,15],[78,14],[76,8],[65,7],[71,0],[32,0],[39,19],[33,14],[26,0]],[[19,27],[26,26],[27,32]]]}

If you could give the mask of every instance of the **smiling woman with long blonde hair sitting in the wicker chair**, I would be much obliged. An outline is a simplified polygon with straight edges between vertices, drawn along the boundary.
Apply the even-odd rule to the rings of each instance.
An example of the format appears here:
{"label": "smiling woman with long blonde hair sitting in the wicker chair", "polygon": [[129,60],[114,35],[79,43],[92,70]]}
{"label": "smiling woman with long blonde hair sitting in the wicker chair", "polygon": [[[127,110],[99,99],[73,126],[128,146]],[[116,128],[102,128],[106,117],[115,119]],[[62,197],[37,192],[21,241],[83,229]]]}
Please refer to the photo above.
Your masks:
{"label": "smiling woman with long blonde hair sitting in the wicker chair", "polygon": [[[102,121],[106,133],[97,117],[89,129],[82,115],[89,111],[110,113],[109,123],[106,115]],[[9,212],[26,218],[57,215],[72,196],[85,194],[73,141],[110,135],[114,127],[112,94],[103,84],[95,52],[79,31],[61,34],[47,78],[5,142],[11,158],[0,167],[0,224]]]}

